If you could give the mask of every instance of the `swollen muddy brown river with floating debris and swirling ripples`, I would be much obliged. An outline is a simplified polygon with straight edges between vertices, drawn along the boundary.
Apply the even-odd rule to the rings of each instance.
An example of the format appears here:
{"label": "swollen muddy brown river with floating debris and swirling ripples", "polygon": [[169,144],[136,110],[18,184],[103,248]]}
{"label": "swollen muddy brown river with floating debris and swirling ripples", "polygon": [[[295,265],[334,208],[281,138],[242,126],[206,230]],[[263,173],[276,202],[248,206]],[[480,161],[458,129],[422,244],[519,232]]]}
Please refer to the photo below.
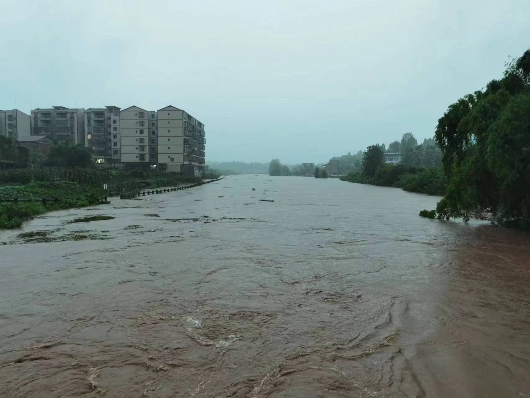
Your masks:
{"label": "swollen muddy brown river with floating debris and swirling ripples", "polygon": [[0,396],[530,397],[530,239],[438,200],[229,176],[2,231]]}

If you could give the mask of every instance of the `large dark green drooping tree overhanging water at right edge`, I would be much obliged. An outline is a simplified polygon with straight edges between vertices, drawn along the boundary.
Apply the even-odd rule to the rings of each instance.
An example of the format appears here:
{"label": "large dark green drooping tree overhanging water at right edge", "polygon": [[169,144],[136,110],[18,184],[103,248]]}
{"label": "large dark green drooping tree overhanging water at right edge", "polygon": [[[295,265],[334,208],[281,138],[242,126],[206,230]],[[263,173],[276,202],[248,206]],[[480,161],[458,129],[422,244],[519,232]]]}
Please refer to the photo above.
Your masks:
{"label": "large dark green drooping tree overhanging water at right edge", "polygon": [[438,120],[446,194],[438,217],[493,221],[530,229],[530,50],[507,65],[504,77],[468,94]]}

